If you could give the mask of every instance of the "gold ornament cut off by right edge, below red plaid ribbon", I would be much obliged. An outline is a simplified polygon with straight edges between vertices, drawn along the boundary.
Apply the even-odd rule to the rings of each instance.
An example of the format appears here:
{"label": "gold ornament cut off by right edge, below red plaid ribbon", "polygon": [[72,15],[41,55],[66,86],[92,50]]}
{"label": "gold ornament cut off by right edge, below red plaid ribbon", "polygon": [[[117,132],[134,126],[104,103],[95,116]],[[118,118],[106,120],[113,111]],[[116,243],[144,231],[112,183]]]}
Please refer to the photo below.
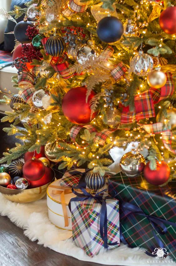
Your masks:
{"label": "gold ornament cut off by right edge, below red plaid ribbon", "polygon": [[161,122],[168,126],[170,130],[176,127],[176,108],[171,108],[166,110],[167,116],[161,116],[159,120],[159,114],[156,116],[156,121]]}

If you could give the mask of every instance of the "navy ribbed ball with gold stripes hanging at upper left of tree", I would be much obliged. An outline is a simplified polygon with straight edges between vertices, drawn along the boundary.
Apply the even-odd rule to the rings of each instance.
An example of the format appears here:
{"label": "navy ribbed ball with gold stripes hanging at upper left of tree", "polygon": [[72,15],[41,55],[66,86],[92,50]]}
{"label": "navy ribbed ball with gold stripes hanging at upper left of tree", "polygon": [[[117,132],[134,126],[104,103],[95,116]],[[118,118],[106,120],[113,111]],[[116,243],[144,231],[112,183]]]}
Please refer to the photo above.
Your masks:
{"label": "navy ribbed ball with gold stripes hanging at upper left of tree", "polygon": [[61,56],[65,49],[64,40],[61,37],[51,36],[46,41],[46,52],[51,56]]}

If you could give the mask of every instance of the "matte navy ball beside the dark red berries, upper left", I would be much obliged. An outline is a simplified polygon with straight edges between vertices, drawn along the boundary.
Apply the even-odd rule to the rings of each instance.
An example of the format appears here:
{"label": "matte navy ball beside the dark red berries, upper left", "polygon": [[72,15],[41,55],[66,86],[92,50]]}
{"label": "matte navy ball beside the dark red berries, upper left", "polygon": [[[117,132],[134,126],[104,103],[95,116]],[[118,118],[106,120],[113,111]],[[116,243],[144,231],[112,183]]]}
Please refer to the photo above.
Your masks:
{"label": "matte navy ball beside the dark red berries, upper left", "polygon": [[34,25],[30,21],[27,21],[27,19],[24,19],[18,22],[14,28],[15,38],[21,43],[32,42],[32,40],[30,40],[29,37],[26,35],[26,30],[28,26],[34,27]]}

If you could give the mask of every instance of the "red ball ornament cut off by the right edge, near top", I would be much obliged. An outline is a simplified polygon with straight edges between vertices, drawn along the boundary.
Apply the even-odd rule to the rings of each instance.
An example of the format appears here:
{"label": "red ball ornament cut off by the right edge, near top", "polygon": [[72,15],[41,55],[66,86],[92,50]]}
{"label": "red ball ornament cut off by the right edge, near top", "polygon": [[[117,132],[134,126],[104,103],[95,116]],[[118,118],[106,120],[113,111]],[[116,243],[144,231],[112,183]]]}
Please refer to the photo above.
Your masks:
{"label": "red ball ornament cut off by the right edge, near top", "polygon": [[176,7],[169,7],[161,12],[159,25],[164,32],[176,34]]}

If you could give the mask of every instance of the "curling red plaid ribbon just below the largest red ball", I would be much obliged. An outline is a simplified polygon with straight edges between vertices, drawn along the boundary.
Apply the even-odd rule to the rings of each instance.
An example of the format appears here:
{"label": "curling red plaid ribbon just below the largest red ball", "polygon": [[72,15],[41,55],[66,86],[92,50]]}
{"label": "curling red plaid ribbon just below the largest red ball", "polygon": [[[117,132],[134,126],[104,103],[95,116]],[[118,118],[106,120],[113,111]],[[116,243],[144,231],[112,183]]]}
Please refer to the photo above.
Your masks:
{"label": "curling red plaid ribbon just below the largest red ball", "polygon": [[90,133],[97,132],[94,141],[97,142],[99,145],[104,145],[110,133],[116,130],[116,129],[104,129],[101,132],[98,132],[96,128],[92,125],[84,125],[84,126],[76,125],[76,126],[73,126],[70,130],[70,137],[73,141],[76,141],[76,137],[78,136],[82,128],[88,129]]}

